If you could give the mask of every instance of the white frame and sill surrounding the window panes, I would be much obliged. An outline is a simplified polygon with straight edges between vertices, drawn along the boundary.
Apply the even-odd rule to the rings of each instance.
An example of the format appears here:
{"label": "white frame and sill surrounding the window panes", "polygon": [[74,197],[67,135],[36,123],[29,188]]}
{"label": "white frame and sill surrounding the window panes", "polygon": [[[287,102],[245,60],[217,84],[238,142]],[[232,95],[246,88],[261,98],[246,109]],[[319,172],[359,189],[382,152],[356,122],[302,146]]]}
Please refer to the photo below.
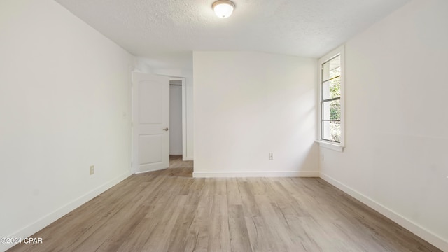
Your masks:
{"label": "white frame and sill surrounding the window panes", "polygon": [[[341,57],[341,141],[340,143],[332,142],[332,141],[326,141],[322,139],[322,64],[325,62],[328,62],[330,59],[337,57],[340,55]],[[335,151],[344,151],[344,144],[345,144],[345,117],[344,117],[344,100],[345,100],[345,92],[344,92],[344,79],[345,79],[345,65],[344,65],[344,45],[339,46],[338,48],[335,48],[335,50],[332,50],[331,52],[328,52],[326,55],[321,57],[318,60],[318,71],[319,71],[319,99],[318,99],[318,140],[316,142],[319,143],[319,145],[323,148],[330,148]]]}

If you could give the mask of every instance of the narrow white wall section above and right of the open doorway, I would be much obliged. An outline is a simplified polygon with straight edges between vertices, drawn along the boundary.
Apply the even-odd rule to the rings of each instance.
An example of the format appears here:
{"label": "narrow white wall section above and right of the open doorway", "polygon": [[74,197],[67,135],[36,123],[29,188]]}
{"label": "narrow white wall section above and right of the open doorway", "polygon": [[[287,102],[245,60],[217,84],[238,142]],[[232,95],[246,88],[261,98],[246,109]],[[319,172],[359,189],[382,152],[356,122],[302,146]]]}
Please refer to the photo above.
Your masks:
{"label": "narrow white wall section above and right of the open doorway", "polygon": [[183,160],[194,158],[193,136],[193,57],[191,53],[151,59],[137,57],[135,71],[164,76],[185,78],[186,82],[186,156]]}

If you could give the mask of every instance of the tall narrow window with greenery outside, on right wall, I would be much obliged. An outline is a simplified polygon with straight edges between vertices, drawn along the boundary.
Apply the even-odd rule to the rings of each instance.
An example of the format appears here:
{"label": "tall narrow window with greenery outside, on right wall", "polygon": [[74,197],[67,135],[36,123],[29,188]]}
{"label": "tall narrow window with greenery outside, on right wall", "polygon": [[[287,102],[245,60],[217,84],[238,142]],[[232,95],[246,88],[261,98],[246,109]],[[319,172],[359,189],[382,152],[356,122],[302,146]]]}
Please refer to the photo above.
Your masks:
{"label": "tall narrow window with greenery outside, on right wall", "polygon": [[343,48],[337,48],[319,60],[321,69],[320,142],[344,146],[343,121]]}

